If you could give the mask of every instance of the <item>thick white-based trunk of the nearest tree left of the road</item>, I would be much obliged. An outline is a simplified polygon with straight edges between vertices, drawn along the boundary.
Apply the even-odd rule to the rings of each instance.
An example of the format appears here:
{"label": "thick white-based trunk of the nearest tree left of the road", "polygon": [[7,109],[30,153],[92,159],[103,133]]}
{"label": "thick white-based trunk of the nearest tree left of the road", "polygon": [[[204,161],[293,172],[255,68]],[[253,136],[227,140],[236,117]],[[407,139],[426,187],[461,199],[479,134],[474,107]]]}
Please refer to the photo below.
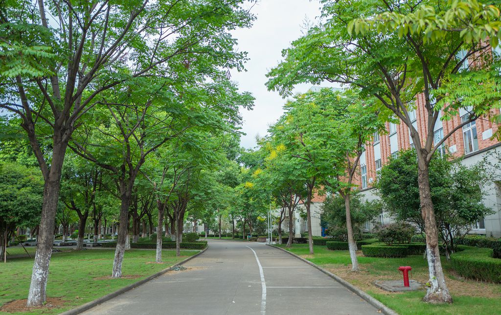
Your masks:
{"label": "thick white-based trunk of the nearest tree left of the road", "polygon": [[[40,220],[39,230],[37,233],[37,253],[35,254],[35,262],[33,265],[32,279],[30,283],[30,291],[28,293],[27,306],[40,306],[47,300],[46,288],[47,279],[49,277],[49,263],[52,255],[52,245],[54,242],[54,225],[56,218],[56,210],[59,203],[59,190],[61,180],[61,167],[63,158],[59,157],[60,165],[57,165],[56,151],[54,148],[53,165],[50,170],[49,179],[44,184],[44,199],[42,203],[42,216]],[[56,161],[55,161],[56,160]]]}

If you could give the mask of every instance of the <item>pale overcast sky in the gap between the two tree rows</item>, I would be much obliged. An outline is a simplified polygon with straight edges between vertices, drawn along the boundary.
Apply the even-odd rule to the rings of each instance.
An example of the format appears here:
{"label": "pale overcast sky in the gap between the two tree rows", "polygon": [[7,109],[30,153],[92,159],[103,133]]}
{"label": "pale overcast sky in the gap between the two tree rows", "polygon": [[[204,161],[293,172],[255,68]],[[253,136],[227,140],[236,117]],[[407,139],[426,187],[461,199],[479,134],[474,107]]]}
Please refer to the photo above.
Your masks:
{"label": "pale overcast sky in the gap between the two tree rows", "polygon": [[[241,146],[256,146],[256,135],[264,136],[269,125],[283,113],[285,100],[278,92],[269,92],[265,86],[268,70],[278,65],[282,50],[299,38],[304,23],[314,22],[320,15],[318,0],[262,0],[252,12],[257,16],[250,29],[232,32],[238,39],[238,50],[248,52],[247,72],[231,72],[241,91],[251,92],[256,98],[254,110],[242,112],[244,123]],[[306,92],[312,85],[298,85],[295,93]]]}

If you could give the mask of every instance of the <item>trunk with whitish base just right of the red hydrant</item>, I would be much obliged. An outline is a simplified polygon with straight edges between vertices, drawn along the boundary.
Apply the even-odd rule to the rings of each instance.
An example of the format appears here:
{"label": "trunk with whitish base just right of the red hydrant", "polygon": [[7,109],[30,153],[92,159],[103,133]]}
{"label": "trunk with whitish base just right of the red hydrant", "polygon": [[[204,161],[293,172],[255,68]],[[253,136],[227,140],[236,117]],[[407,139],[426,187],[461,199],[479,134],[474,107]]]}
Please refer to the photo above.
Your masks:
{"label": "trunk with whitish base just right of the red hydrant", "polygon": [[418,161],[418,184],[419,199],[421,202],[421,215],[424,220],[426,233],[426,259],[428,260],[429,283],[423,301],[431,303],[452,303],[445,277],[443,275],[442,263],[440,261],[440,250],[438,246],[438,230],[431,201],[431,191],[429,183],[429,163]]}

